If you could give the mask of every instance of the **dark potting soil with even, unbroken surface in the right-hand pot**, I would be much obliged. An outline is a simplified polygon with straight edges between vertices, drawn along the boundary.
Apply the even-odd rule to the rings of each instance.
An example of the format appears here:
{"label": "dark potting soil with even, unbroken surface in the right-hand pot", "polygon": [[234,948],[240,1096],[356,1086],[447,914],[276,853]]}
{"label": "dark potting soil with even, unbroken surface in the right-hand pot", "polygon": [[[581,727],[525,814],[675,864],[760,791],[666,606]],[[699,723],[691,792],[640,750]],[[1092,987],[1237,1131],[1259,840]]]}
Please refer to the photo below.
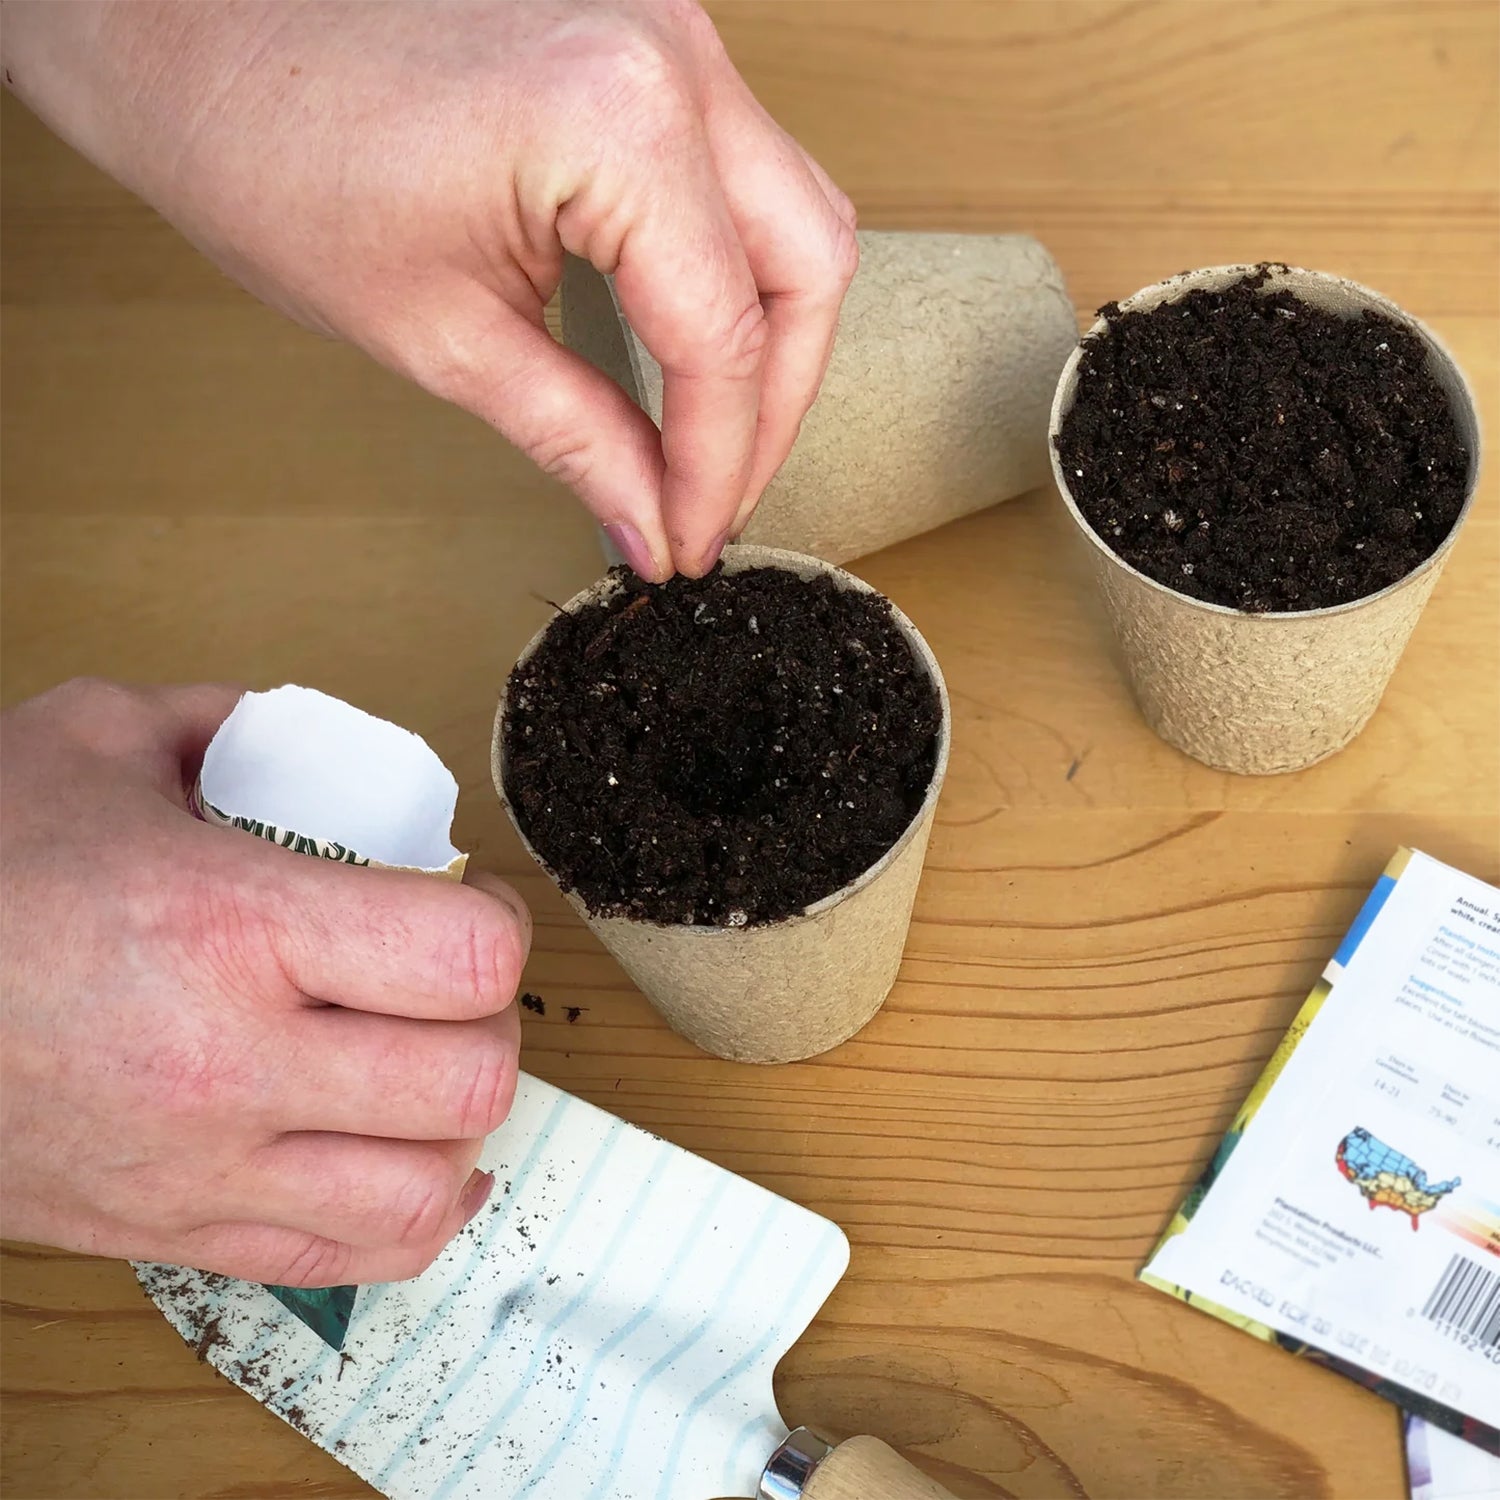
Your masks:
{"label": "dark potting soil with even, unbroken surface in the right-hand pot", "polygon": [[1437,550],[1468,452],[1414,333],[1264,284],[1262,267],[1149,312],[1101,308],[1058,458],[1084,519],[1148,578],[1236,609],[1322,609]]}

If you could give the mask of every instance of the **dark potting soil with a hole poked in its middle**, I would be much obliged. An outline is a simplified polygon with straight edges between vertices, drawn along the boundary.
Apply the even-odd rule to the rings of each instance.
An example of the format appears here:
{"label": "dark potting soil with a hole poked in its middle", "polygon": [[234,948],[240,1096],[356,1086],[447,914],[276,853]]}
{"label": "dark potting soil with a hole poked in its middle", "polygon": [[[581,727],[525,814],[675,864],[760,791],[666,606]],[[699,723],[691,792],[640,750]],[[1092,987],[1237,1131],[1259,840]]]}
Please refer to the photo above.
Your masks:
{"label": "dark potting soil with a hole poked in its middle", "polygon": [[890,604],[780,568],[616,576],[507,696],[506,795],[564,888],[602,915],[741,927],[879,860],[940,722]]}

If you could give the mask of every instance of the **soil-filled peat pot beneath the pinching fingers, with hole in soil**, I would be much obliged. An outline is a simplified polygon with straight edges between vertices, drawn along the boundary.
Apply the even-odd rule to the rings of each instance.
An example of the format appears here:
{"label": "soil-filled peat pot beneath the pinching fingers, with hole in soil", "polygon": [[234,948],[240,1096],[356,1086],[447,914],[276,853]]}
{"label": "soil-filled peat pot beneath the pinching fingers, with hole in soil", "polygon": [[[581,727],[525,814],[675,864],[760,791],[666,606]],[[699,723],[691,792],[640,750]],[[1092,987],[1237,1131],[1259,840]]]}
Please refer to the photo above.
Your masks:
{"label": "soil-filled peat pot beneath the pinching fingers, with hole in soil", "polygon": [[890,600],[795,552],[615,568],[510,675],[522,840],[672,1028],[740,1062],[852,1036],[900,968],[950,714]]}

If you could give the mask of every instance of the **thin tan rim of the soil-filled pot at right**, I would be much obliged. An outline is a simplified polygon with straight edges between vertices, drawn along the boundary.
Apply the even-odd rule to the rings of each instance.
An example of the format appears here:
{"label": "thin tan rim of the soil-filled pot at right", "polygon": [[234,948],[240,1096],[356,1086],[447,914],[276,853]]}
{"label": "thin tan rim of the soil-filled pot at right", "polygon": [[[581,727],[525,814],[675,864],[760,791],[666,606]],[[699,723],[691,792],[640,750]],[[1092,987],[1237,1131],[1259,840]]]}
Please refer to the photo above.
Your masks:
{"label": "thin tan rim of the soil-filled pot at right", "polygon": [[[1122,312],[1132,312],[1140,306],[1160,306],[1166,302],[1173,302],[1173,292],[1190,292],[1198,286],[1224,284],[1228,285],[1234,278],[1246,276],[1263,268],[1264,262],[1257,264],[1238,264],[1238,266],[1203,266],[1191,272],[1178,272],[1174,276],[1167,276],[1160,282],[1152,282],[1149,286],[1142,286],[1140,291],[1132,292],[1130,297],[1124,297],[1118,306]],[[1454,520],[1452,528],[1448,536],[1438,543],[1437,549],[1428,554],[1410,573],[1402,574],[1394,584],[1388,584],[1378,592],[1365,594],[1360,598],[1350,598],[1342,604],[1326,604],[1322,609],[1268,609],[1262,612],[1254,612],[1248,609],[1236,609],[1232,604],[1212,604],[1204,598],[1194,598],[1191,594],[1184,594],[1168,584],[1162,584],[1160,579],[1150,578],[1148,573],[1142,573],[1132,562],[1122,558],[1089,524],[1088,518],[1078,508],[1078,502],[1072,498],[1072,490],[1068,488],[1068,478],[1062,470],[1062,460],[1058,456],[1058,434],[1062,429],[1062,420],[1072,410],[1072,402],[1077,396],[1078,384],[1078,362],[1083,358],[1083,350],[1086,340],[1092,338],[1101,338],[1108,334],[1108,322],[1104,318],[1096,318],[1094,324],[1080,336],[1077,346],[1068,356],[1068,363],[1064,364],[1062,374],[1058,376],[1058,388],[1052,399],[1052,412],[1047,420],[1047,460],[1052,465],[1052,477],[1058,486],[1058,494],[1062,496],[1062,502],[1068,507],[1068,514],[1072,518],[1074,525],[1084,537],[1094,544],[1094,548],[1102,554],[1110,562],[1119,567],[1122,572],[1130,573],[1131,578],[1144,584],[1148,588],[1155,590],[1160,594],[1166,594],[1174,602],[1191,606],[1192,609],[1200,609],[1208,615],[1226,615],[1232,620],[1239,621],[1256,621],[1269,624],[1299,624],[1304,621],[1320,621],[1330,620],[1336,615],[1353,614],[1358,609],[1368,609],[1370,606],[1389,598],[1392,594],[1408,588],[1424,574],[1430,573],[1434,567],[1442,566],[1448,560],[1448,554],[1452,550],[1454,544],[1458,542],[1458,534],[1464,528],[1464,522],[1468,519],[1470,512],[1474,506],[1474,496],[1479,492],[1479,459],[1482,447],[1482,435],[1479,430],[1479,408],[1474,402],[1473,388],[1466,378],[1462,368],[1458,360],[1454,358],[1452,351],[1446,344],[1425,324],[1420,318],[1407,312],[1404,308],[1396,306],[1389,297],[1383,297],[1380,292],[1360,282],[1350,280],[1347,276],[1335,276],[1332,272],[1314,272],[1306,270],[1300,266],[1286,266],[1281,261],[1269,262],[1272,272],[1274,288],[1287,286],[1296,291],[1299,282],[1322,282],[1341,288],[1346,292],[1353,294],[1368,308],[1376,312],[1384,314],[1392,322],[1400,324],[1414,333],[1422,344],[1426,346],[1428,358],[1431,363],[1437,364],[1450,376],[1449,381],[1442,381],[1444,393],[1450,399],[1454,410],[1454,420],[1458,424],[1460,435],[1468,444],[1468,482],[1464,494],[1464,504]],[[1150,298],[1148,302],[1148,298]],[[1467,418],[1467,422],[1466,422]],[[1466,428],[1468,429],[1466,432]],[[1472,435],[1470,435],[1472,434]]]}

